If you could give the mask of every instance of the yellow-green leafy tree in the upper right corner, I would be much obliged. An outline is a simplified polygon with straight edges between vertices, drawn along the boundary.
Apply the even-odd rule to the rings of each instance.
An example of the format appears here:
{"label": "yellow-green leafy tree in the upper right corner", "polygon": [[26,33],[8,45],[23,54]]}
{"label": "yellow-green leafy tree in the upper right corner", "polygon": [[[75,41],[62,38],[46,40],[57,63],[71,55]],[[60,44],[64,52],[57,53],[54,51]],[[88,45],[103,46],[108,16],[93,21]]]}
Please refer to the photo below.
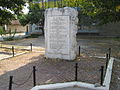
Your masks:
{"label": "yellow-green leafy tree in the upper right corner", "polygon": [[83,0],[82,12],[100,24],[120,21],[120,0]]}

